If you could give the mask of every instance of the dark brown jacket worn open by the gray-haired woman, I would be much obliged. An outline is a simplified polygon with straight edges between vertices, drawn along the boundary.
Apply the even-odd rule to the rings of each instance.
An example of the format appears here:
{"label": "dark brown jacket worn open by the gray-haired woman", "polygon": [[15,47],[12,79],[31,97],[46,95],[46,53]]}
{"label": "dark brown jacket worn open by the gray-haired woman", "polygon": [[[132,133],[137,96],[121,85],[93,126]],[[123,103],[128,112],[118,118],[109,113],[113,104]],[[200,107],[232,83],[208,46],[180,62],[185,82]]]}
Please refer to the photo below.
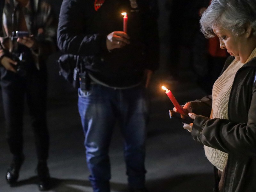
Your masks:
{"label": "dark brown jacket worn open by the gray-haired woman", "polygon": [[[229,58],[224,68],[231,61]],[[196,141],[228,153],[223,192],[256,191],[255,72],[256,58],[237,71],[228,102],[229,120],[198,115],[193,124]],[[191,103],[193,113],[210,115],[211,97]]]}

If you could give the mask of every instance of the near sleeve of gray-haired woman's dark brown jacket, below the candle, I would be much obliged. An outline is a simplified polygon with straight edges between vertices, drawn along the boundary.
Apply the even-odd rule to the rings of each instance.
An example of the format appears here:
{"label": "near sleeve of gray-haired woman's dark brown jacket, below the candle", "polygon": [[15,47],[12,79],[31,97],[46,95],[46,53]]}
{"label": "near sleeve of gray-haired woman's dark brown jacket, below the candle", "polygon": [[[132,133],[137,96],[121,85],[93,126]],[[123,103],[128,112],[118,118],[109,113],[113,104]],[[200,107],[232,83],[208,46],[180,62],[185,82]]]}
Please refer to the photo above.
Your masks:
{"label": "near sleeve of gray-haired woman's dark brown jacket, below the candle", "polygon": [[209,119],[198,115],[193,124],[194,140],[228,154],[256,156],[256,84],[253,86],[248,122],[235,123],[227,119]]}

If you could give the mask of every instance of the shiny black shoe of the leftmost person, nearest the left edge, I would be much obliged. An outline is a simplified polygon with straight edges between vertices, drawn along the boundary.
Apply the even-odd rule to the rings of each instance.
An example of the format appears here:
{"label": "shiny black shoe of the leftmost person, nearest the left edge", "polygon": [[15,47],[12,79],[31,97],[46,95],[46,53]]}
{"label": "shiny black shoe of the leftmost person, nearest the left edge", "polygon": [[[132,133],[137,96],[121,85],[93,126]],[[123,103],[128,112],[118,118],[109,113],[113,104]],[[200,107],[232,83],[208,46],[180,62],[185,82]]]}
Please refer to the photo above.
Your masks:
{"label": "shiny black shoe of the leftmost person, nearest the left edge", "polygon": [[7,183],[13,185],[17,182],[20,173],[20,167],[24,162],[24,156],[19,158],[13,158],[10,168],[7,170],[5,179]]}

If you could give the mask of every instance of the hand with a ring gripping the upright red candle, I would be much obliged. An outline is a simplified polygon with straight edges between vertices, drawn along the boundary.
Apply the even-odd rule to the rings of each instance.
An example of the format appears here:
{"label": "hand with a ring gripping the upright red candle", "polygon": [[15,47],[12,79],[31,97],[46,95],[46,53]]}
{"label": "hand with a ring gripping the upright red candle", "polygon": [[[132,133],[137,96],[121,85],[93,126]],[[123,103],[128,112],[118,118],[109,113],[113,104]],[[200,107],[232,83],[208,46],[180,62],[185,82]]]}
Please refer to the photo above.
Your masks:
{"label": "hand with a ring gripping the upright red candle", "polygon": [[110,51],[116,48],[122,48],[130,44],[130,37],[123,31],[114,31],[107,36],[107,49]]}

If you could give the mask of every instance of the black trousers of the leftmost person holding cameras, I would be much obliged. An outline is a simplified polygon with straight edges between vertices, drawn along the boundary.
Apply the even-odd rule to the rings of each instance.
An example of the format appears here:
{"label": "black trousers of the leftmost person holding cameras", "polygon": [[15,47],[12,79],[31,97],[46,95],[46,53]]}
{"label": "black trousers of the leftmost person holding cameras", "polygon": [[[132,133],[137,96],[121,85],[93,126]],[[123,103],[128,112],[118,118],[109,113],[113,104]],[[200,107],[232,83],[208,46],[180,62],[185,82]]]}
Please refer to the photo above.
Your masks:
{"label": "black trousers of the leftmost person holding cameras", "polygon": [[37,70],[30,64],[26,76],[1,67],[1,88],[3,95],[6,135],[14,158],[23,155],[23,111],[27,100],[32,128],[35,134],[38,160],[46,160],[49,150],[49,134],[46,124],[46,68]]}

